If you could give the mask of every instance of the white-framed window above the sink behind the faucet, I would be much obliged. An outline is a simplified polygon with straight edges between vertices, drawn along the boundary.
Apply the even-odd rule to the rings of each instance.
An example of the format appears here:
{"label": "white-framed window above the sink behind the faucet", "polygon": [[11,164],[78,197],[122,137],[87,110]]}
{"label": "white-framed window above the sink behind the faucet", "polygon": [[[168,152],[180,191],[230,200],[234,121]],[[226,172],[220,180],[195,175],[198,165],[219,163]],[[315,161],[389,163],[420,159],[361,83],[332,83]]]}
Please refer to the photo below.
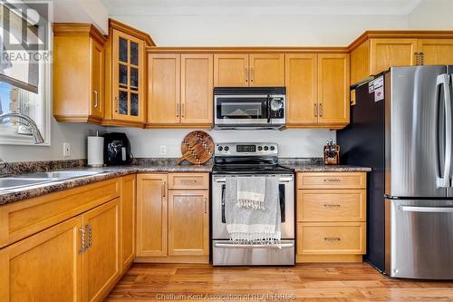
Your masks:
{"label": "white-framed window above the sink behind the faucet", "polygon": [[[29,116],[43,136],[41,145],[49,145],[52,34],[42,15],[49,4],[33,5],[0,0],[0,114]],[[24,120],[10,117],[0,121],[0,144],[34,144],[34,137]]]}

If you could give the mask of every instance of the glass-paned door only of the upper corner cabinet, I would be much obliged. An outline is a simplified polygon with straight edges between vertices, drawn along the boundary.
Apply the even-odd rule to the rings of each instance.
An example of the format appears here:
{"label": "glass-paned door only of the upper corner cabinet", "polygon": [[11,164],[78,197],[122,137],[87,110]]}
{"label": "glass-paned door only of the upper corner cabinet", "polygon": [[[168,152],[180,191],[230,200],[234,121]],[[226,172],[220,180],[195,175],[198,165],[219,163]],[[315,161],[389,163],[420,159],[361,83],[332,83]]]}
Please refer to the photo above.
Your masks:
{"label": "glass-paned door only of the upper corner cabinet", "polygon": [[144,42],[113,30],[113,118],[145,121]]}

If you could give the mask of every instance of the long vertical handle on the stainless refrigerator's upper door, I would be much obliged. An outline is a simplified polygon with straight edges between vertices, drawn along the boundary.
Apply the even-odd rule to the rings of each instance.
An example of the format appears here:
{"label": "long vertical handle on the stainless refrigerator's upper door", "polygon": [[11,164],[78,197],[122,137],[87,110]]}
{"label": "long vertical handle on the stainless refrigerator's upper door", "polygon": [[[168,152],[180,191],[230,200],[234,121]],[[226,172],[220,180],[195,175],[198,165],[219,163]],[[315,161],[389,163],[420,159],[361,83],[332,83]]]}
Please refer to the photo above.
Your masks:
{"label": "long vertical handle on the stainless refrigerator's upper door", "polygon": [[[444,89],[444,106],[445,106],[445,158],[444,158],[444,173],[443,177],[438,177],[436,179],[436,185],[438,188],[448,188],[451,187],[450,181],[450,172],[451,172],[451,94],[449,87],[449,75],[447,73],[439,74],[436,81],[436,97],[439,97],[439,88],[443,86]],[[439,108],[439,106],[438,106]],[[438,112],[439,114],[439,112]],[[439,116],[439,115],[438,115]],[[437,148],[439,156],[439,132],[438,135]]]}

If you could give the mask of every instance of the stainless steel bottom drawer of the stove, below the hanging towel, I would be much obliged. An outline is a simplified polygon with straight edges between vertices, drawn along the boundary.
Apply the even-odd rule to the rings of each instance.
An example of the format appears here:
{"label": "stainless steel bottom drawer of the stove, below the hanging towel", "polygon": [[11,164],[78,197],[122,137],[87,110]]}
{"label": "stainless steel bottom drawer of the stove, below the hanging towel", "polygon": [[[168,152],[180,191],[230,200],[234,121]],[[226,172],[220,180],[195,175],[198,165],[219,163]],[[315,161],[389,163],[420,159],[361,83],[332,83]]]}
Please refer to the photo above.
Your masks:
{"label": "stainless steel bottom drawer of the stove, below the hanging towel", "polygon": [[282,240],[281,248],[237,245],[230,240],[213,240],[212,264],[215,266],[292,266],[294,240]]}

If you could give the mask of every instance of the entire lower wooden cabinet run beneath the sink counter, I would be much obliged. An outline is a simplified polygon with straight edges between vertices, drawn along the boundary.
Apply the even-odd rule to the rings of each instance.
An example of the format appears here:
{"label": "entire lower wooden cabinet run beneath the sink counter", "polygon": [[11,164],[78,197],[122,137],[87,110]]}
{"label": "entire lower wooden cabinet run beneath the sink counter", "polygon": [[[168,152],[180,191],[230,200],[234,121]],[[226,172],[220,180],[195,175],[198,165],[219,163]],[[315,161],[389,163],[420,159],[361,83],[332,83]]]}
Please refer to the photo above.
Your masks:
{"label": "entire lower wooden cabinet run beneath the sink counter", "polygon": [[0,301],[101,301],[133,259],[133,196],[130,175],[0,207]]}

